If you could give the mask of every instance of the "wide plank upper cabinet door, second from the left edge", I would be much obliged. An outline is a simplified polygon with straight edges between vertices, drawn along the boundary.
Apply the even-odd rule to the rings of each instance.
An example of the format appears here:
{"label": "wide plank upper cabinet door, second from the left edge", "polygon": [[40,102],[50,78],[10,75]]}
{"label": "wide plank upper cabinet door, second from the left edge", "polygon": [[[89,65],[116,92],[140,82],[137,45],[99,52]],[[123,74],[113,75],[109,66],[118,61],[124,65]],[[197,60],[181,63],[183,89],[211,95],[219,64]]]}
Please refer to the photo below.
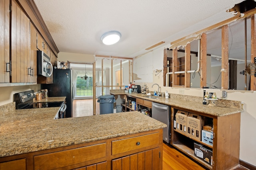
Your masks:
{"label": "wide plank upper cabinet door, second from the left edge", "polygon": [[30,20],[21,10],[20,6],[12,0],[12,21],[11,21],[11,61],[12,75],[11,82],[28,82],[28,69],[30,63]]}

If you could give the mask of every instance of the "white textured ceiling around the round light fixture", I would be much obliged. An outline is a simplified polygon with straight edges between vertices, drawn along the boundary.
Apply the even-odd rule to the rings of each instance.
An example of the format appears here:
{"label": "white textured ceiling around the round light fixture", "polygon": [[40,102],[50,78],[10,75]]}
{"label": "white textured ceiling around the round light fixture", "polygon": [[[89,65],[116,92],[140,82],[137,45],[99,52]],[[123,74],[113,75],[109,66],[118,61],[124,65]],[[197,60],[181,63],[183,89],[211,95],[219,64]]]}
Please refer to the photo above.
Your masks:
{"label": "white textured ceiling around the round light fixture", "polygon": [[[34,0],[60,52],[130,58],[231,18],[226,10],[242,1]],[[102,34],[112,30],[120,41],[104,45]]]}

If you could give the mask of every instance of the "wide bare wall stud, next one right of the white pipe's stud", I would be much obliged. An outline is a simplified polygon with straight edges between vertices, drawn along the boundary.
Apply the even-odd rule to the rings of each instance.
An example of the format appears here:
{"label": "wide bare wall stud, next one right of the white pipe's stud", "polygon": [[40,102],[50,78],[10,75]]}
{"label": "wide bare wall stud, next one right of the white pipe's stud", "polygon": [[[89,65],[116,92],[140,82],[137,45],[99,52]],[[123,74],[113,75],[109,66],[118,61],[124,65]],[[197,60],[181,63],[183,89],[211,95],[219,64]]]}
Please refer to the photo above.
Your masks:
{"label": "wide bare wall stud, next one right of the white pipe's stud", "polygon": [[202,38],[200,41],[200,87],[206,87],[206,73],[207,73],[207,35],[206,33],[202,34]]}

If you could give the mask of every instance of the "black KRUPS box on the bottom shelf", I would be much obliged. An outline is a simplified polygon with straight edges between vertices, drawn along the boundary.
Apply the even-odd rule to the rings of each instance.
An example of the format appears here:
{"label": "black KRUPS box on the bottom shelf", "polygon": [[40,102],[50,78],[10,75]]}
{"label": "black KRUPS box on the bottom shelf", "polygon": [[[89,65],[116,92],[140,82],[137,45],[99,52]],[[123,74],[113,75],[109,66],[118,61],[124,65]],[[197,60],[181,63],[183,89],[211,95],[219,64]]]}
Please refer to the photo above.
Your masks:
{"label": "black KRUPS box on the bottom shelf", "polygon": [[201,143],[194,143],[194,151],[196,157],[212,166],[212,149]]}

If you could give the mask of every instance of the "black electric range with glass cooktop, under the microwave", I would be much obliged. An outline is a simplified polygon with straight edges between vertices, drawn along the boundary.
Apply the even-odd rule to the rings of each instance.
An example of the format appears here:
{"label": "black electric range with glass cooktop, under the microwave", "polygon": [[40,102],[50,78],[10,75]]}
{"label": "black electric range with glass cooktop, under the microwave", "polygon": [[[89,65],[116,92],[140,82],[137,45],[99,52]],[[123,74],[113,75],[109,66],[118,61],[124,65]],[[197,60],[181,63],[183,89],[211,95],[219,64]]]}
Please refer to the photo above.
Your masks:
{"label": "black electric range with glass cooktop, under the microwave", "polygon": [[58,111],[58,118],[65,117],[66,104],[64,102],[33,102],[36,98],[34,90],[20,92],[14,94],[14,101],[16,102],[16,109],[34,109],[43,107],[60,107]]}

